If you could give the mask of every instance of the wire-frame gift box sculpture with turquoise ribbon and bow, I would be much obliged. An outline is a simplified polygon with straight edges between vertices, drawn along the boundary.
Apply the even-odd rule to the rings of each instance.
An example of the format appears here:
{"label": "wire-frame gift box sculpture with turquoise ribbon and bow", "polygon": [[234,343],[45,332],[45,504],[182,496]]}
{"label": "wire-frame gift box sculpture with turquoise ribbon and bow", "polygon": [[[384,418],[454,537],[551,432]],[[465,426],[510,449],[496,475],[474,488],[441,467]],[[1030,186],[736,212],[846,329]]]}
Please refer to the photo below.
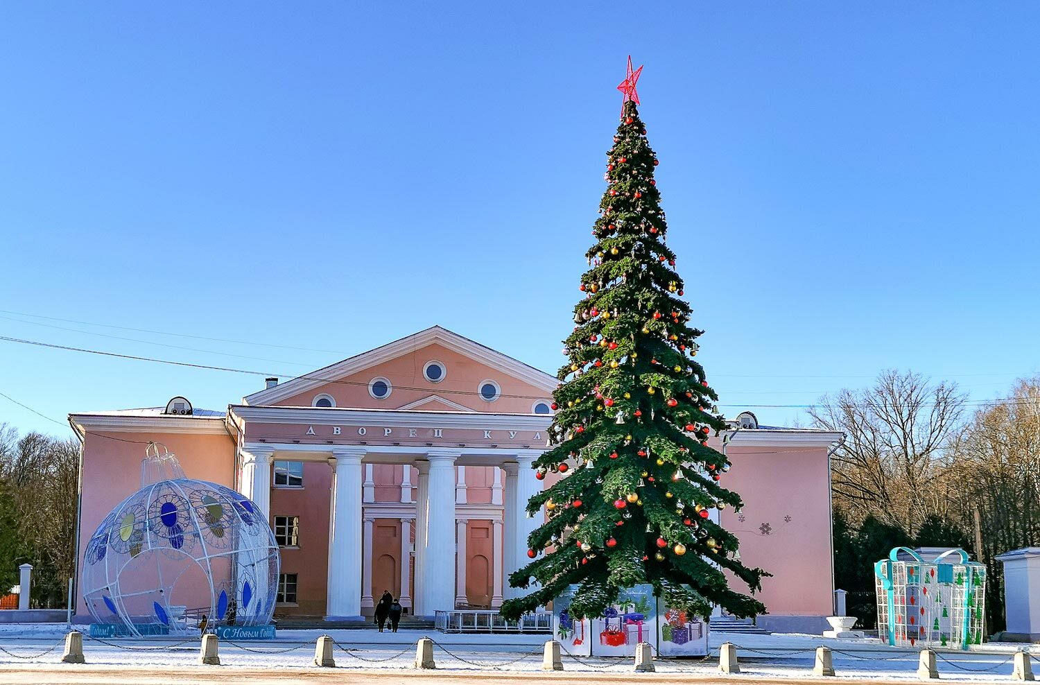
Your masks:
{"label": "wire-frame gift box sculpture with turquoise ribbon and bow", "polygon": [[874,564],[874,574],[882,640],[961,650],[982,643],[986,567],[968,561],[964,550],[926,561],[913,550],[896,547]]}

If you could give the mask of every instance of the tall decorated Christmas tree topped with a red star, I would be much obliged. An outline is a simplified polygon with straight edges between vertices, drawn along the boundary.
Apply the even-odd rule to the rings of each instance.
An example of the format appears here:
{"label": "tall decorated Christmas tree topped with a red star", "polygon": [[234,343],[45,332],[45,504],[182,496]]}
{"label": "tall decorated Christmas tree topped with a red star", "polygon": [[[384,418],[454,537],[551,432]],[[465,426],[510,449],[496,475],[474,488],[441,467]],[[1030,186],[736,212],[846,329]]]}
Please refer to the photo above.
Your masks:
{"label": "tall decorated Christmas tree topped with a red star", "polygon": [[510,576],[530,591],[506,601],[510,618],[577,584],[569,612],[600,615],[620,592],[651,583],[670,607],[706,616],[712,605],[735,616],[764,613],[728,586],[732,572],[754,592],[760,569],[735,558],[737,539],[711,509],[742,506],[721,480],[726,457],[708,446],[726,428],[718,396],[694,361],[691,307],[666,244],[668,223],[654,181],[657,157],[636,108],[642,67],[619,86],[621,124],[607,153],[606,192],[593,227],[589,270],[578,289],[568,361],[553,394],[552,448],[537,477],[562,473],[527,511],[546,522],[528,537],[532,560]]}

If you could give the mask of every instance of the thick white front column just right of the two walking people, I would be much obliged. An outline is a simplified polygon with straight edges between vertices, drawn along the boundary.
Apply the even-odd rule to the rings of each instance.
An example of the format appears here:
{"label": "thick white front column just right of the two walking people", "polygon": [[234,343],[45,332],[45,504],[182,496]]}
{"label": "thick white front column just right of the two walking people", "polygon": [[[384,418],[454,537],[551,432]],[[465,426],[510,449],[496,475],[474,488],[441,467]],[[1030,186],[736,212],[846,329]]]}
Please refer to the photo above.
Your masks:
{"label": "thick white front column just right of the two walking people", "polygon": [[445,582],[454,567],[454,460],[459,452],[432,449],[426,454],[430,476],[426,495],[426,534],[423,539],[422,615],[454,608],[454,588]]}

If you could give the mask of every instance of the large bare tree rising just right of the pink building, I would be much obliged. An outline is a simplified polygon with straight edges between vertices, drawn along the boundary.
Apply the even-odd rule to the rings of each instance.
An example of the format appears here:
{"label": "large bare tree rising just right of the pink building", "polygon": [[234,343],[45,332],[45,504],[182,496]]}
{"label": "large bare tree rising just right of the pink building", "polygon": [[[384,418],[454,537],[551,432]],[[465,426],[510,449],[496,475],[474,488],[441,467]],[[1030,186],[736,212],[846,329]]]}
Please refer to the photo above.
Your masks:
{"label": "large bare tree rising just right of the pink building", "polygon": [[913,535],[930,513],[944,516],[947,448],[964,411],[956,384],[888,370],[874,386],[825,395],[809,410],[816,426],[840,430],[834,504],[853,522],[869,515]]}

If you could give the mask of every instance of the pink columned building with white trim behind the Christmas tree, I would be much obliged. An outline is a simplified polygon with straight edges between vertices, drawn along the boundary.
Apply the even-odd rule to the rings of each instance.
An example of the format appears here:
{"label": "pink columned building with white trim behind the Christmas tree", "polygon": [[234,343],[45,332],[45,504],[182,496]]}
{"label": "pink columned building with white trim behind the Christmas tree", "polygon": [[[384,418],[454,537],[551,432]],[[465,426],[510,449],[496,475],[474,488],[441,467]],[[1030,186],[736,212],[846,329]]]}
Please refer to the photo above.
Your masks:
{"label": "pink columned building with white trim behind the Christmas tree", "polygon": [[[282,547],[277,615],[358,617],[384,590],[432,616],[496,607],[514,591],[537,521],[554,376],[434,326],[244,397],[226,412],[165,407],[73,414],[83,443],[79,561],[101,520],[137,490],[142,443],[185,473],[264,509]],[[190,413],[186,413],[190,412]],[[832,613],[828,451],[840,434],[730,433],[723,524],[745,563],[773,574],[759,624],[822,629]],[[735,428],[734,424],[734,428]],[[115,439],[115,440],[112,440]],[[82,598],[77,615],[87,620]]]}

